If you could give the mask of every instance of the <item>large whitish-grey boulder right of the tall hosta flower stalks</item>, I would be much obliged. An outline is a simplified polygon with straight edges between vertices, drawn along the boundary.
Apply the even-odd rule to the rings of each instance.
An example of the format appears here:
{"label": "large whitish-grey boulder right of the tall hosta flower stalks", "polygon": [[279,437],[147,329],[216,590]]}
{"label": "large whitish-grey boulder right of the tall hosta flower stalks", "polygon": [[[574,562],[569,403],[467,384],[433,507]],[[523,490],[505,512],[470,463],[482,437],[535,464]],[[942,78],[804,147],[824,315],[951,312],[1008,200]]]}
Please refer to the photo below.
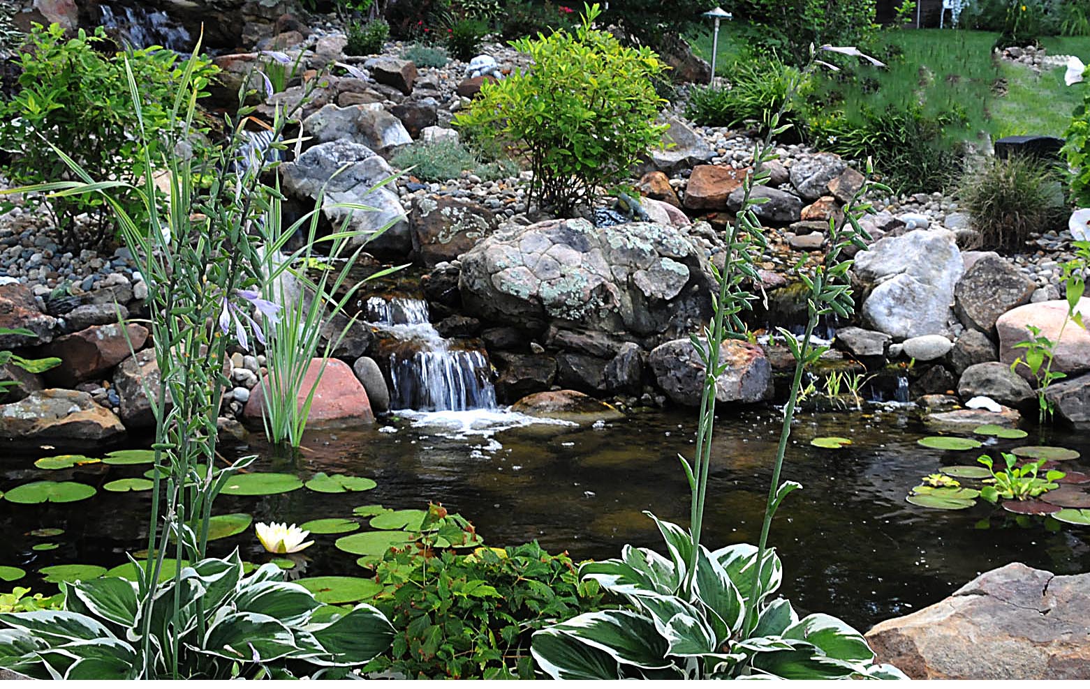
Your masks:
{"label": "large whitish-grey boulder right of the tall hosta flower stalks", "polygon": [[945,335],[964,263],[954,234],[913,230],[856,255],[853,271],[870,294],[863,321],[895,340]]}

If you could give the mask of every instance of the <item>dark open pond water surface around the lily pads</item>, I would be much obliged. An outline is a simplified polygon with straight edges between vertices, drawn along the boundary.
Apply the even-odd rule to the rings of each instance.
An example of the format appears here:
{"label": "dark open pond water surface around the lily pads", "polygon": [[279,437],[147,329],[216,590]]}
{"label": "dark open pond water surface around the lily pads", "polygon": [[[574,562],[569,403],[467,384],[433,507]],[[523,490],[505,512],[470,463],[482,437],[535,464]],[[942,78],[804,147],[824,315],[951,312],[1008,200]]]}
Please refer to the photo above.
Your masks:
{"label": "dark open pond water surface around the lily pads", "polygon": [[[949,464],[974,464],[980,451],[944,452],[919,446],[930,435],[912,407],[875,406],[862,414],[803,414],[795,428],[785,477],[803,484],[780,508],[772,543],[785,564],[784,591],[806,611],[835,614],[857,626],[934,603],[978,573],[1019,561],[1056,573],[1090,570],[1090,527],[1017,517],[983,501],[941,512],[905,502],[920,478]],[[695,414],[635,411],[598,428],[524,425],[497,411],[413,414],[379,419],[373,429],[312,433],[296,457],[252,444],[222,445],[227,457],[261,456],[254,469],[366,476],[377,488],[360,493],[307,489],[265,497],[225,496],[218,513],[245,512],[255,520],[301,524],[351,517],[359,505],[425,507],[441,502],[475,524],[491,545],[537,539],[573,557],[616,556],[627,542],[661,547],[642,512],[686,524],[688,487],[677,454],[691,455]],[[506,428],[505,428],[506,427]],[[730,410],[716,427],[705,543],[718,547],[755,542],[779,429],[774,411]],[[818,435],[846,435],[840,450],[809,445]],[[1063,430],[1044,438],[985,442],[988,448],[1057,444],[1083,458],[1062,468],[1087,471],[1090,440]],[[146,445],[145,445],[146,446]],[[56,454],[59,450],[43,452]],[[0,490],[32,480],[76,480],[95,487],[137,477],[147,466],[87,465],[43,471],[33,455],[0,459]],[[1083,487],[1085,488],[1085,487]],[[19,505],[0,501],[0,565],[31,574],[19,583],[48,592],[36,571],[64,563],[113,566],[143,547],[149,493],[110,493],[70,504]],[[52,538],[35,529],[59,528]],[[334,546],[336,536],[298,557],[292,576],[365,575],[355,556]],[[52,550],[33,550],[53,542]],[[250,529],[216,541],[213,554],[239,545],[251,562],[270,557]]]}

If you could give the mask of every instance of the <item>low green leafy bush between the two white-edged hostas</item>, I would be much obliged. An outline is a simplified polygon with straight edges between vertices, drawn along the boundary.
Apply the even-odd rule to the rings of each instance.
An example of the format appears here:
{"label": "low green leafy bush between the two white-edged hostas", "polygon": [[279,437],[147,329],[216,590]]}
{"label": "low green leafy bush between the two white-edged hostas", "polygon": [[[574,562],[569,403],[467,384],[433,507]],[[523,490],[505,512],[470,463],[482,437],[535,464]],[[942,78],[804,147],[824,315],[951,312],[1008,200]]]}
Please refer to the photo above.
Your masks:
{"label": "low green leafy bush between the two white-edged hostas", "polygon": [[366,670],[533,679],[531,635],[602,607],[597,582],[580,582],[567,554],[550,555],[537,543],[470,555],[413,550],[388,553],[377,567],[387,586],[374,603],[404,631]]}

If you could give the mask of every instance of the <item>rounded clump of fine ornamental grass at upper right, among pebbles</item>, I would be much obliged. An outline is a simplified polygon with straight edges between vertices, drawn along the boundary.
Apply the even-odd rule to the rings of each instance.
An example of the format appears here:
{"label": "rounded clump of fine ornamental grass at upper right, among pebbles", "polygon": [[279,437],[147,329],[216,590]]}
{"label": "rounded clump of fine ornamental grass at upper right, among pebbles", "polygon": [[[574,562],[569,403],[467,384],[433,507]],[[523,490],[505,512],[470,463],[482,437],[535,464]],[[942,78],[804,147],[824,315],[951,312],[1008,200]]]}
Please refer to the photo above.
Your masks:
{"label": "rounded clump of fine ornamental grass at upper right, among pebbles", "polygon": [[1031,232],[1063,227],[1070,209],[1064,202],[1055,165],[1032,158],[990,158],[966,167],[957,198],[972,216],[985,248],[1026,249]]}

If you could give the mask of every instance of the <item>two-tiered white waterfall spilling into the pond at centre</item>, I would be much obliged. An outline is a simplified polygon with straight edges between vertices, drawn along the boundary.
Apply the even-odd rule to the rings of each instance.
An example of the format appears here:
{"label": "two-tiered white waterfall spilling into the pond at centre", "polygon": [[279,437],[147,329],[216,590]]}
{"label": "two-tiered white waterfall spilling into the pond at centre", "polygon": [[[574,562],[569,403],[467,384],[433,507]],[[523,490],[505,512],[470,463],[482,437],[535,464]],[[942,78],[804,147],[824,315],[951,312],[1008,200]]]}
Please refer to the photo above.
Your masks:
{"label": "two-tiered white waterfall spilling into the pond at centre", "polygon": [[393,409],[495,409],[496,391],[483,352],[452,348],[429,320],[423,299],[371,297],[366,320],[391,337],[387,347]]}

